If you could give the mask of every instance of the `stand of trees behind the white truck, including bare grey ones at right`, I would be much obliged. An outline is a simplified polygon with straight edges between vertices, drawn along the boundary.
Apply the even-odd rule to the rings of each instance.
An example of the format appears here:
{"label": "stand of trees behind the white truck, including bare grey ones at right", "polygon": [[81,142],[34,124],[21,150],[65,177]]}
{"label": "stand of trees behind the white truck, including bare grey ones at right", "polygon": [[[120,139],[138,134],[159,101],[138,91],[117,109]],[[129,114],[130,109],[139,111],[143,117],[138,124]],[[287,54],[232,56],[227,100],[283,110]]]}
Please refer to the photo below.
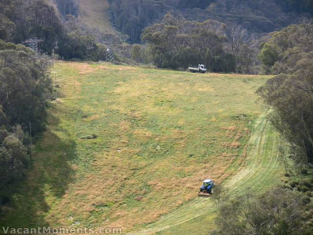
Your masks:
{"label": "stand of trees behind the white truck, including bare grey ones at right", "polygon": [[146,55],[159,68],[186,69],[204,63],[214,72],[251,73],[258,63],[258,48],[248,38],[240,25],[199,23],[172,15],[147,27],[141,37],[149,45]]}

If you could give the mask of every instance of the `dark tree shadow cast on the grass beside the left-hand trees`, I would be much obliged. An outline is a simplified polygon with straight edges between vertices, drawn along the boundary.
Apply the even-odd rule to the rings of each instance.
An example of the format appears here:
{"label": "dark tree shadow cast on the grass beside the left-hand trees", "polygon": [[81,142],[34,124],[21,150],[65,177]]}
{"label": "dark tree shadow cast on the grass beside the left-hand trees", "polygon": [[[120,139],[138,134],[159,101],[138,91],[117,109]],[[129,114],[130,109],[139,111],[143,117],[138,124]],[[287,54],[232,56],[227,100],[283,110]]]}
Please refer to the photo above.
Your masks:
{"label": "dark tree shadow cast on the grass beside the left-hand trees", "polygon": [[36,143],[25,179],[1,189],[0,195],[9,198],[9,203],[2,207],[0,228],[49,226],[45,216],[65,194],[74,176],[69,162],[76,158],[76,143],[59,123],[59,118],[49,116],[48,130]]}

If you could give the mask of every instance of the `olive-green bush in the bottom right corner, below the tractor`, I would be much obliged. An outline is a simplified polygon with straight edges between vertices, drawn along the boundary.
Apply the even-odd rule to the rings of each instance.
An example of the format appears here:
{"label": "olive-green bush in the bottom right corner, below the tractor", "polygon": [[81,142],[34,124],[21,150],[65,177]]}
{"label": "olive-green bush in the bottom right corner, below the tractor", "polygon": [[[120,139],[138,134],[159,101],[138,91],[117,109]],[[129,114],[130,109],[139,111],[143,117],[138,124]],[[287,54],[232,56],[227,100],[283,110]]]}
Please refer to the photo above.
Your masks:
{"label": "olive-green bush in the bottom right corner, below the tractor", "polygon": [[248,192],[222,200],[216,234],[302,234],[302,215],[310,201],[300,192],[280,187],[261,197]]}

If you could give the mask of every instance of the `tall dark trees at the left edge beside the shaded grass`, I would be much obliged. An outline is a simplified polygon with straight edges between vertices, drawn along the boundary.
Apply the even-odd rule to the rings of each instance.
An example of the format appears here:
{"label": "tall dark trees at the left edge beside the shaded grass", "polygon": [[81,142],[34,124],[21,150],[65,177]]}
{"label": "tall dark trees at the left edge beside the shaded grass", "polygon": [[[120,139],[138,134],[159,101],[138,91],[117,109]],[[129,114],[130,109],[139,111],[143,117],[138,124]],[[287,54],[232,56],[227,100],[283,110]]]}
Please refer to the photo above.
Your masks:
{"label": "tall dark trees at the left edge beside the shaded grass", "polygon": [[[0,40],[0,188],[22,179],[30,161],[31,134],[45,130],[51,98],[49,60]],[[0,195],[0,205],[2,202]]]}

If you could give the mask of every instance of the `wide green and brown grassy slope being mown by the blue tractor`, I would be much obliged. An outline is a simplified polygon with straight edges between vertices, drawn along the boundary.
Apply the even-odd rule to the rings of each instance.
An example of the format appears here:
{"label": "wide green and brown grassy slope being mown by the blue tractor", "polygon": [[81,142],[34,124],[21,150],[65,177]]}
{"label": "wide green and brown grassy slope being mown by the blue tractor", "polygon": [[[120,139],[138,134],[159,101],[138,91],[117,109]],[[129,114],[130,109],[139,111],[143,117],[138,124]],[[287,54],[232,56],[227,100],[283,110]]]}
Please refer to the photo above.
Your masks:
{"label": "wide green and brown grassy slope being mown by the blue tractor", "polygon": [[204,178],[232,192],[278,180],[277,136],[254,93],[267,77],[84,63],[56,71],[61,97],[1,225],[190,234],[213,226],[210,199],[197,198]]}

